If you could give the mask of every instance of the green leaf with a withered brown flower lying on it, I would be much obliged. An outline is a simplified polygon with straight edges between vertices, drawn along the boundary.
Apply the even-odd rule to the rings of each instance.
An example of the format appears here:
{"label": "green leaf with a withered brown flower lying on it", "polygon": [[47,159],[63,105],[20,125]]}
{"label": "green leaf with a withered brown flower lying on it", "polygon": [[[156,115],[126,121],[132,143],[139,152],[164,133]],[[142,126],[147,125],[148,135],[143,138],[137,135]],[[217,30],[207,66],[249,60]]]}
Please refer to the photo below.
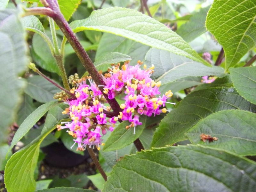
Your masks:
{"label": "green leaf with a withered brown flower lying on it", "polygon": [[[242,110],[224,110],[199,121],[186,135],[193,144],[226,149],[238,155],[256,155],[256,114]],[[200,135],[209,134],[217,141],[203,142]]]}

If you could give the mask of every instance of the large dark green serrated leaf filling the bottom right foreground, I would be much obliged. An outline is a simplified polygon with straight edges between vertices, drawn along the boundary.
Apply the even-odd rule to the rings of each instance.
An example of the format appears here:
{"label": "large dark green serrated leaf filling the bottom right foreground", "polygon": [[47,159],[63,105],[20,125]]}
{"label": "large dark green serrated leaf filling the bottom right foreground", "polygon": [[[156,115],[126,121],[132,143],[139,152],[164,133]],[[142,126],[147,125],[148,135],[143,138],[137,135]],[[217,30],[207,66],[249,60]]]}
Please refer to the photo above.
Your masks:
{"label": "large dark green serrated leaf filling the bottom right foreground", "polygon": [[125,156],[102,192],[253,191],[255,172],[255,162],[223,150],[169,146]]}

